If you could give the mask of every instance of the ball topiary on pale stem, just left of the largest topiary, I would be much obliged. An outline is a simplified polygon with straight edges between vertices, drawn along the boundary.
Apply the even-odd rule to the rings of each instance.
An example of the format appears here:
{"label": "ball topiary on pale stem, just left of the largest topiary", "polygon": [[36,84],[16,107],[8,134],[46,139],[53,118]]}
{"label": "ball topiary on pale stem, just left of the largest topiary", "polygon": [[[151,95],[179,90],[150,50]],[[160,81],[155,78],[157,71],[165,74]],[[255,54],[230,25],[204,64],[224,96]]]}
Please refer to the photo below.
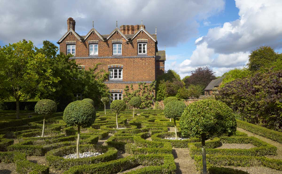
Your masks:
{"label": "ball topiary on pale stem, just left of the largest topiary", "polygon": [[184,109],[186,108],[186,104],[182,101],[170,101],[164,106],[164,116],[166,118],[174,120],[174,128],[175,128],[175,139],[177,140],[177,128],[175,120],[178,120],[182,115]]}

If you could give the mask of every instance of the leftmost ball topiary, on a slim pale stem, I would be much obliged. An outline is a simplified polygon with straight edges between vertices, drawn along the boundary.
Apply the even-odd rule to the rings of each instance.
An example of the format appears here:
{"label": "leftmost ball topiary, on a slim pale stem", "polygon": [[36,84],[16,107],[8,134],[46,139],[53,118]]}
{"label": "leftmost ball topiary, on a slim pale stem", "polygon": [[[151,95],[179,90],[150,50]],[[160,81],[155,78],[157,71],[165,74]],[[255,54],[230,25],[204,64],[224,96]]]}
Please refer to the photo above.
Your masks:
{"label": "leftmost ball topiary, on a slim pale stem", "polygon": [[34,111],[40,115],[43,115],[43,129],[42,129],[42,135],[41,137],[44,137],[44,129],[45,129],[45,116],[52,115],[57,111],[57,104],[56,102],[49,100],[49,99],[43,99],[39,100],[35,107]]}

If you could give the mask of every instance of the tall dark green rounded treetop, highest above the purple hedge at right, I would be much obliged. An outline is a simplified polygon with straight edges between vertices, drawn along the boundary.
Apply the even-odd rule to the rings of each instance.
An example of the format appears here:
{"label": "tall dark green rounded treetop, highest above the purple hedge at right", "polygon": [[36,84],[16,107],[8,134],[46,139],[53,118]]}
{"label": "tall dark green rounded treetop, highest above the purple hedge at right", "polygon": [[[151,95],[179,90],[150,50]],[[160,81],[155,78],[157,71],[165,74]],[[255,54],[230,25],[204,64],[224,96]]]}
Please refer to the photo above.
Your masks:
{"label": "tall dark green rounded treetop, highest above the purple hedge at right", "polygon": [[281,58],[281,54],[274,52],[270,46],[261,46],[249,55],[248,70],[254,72],[270,68],[272,63],[279,58]]}

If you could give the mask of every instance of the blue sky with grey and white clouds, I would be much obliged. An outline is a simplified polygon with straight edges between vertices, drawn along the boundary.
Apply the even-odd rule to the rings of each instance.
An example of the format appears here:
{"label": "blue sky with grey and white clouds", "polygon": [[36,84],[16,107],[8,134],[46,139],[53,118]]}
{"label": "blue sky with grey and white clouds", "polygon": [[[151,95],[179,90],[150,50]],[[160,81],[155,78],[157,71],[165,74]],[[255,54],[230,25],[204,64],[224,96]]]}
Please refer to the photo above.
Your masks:
{"label": "blue sky with grey and white clouds", "polygon": [[[83,3],[82,3],[83,2]],[[67,32],[67,18],[85,35],[92,28],[110,34],[120,25],[143,24],[166,48],[165,70],[180,77],[199,66],[216,76],[243,68],[260,46],[282,52],[281,0],[13,1],[0,0],[0,46],[22,39],[41,47]],[[166,45],[166,47],[165,47]]]}

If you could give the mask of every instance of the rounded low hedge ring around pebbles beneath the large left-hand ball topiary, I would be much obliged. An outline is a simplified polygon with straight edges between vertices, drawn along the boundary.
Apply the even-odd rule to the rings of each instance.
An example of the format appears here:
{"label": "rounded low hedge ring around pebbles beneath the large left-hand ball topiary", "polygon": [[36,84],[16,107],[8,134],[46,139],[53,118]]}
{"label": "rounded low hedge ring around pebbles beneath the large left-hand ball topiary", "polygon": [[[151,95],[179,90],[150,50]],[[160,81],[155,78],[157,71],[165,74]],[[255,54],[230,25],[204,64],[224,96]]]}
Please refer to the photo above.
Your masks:
{"label": "rounded low hedge ring around pebbles beneath the large left-hand ball topiary", "polygon": [[62,157],[63,155],[76,153],[76,146],[66,146],[47,152],[46,160],[49,166],[52,166],[57,170],[60,169],[66,170],[72,166],[78,166],[82,164],[94,164],[94,163],[114,160],[116,159],[118,153],[118,151],[115,148],[111,148],[108,146],[96,146],[96,145],[80,145],[79,150],[80,153],[86,151],[92,151],[92,152],[99,151],[102,152],[103,154],[89,158],[65,159]]}

